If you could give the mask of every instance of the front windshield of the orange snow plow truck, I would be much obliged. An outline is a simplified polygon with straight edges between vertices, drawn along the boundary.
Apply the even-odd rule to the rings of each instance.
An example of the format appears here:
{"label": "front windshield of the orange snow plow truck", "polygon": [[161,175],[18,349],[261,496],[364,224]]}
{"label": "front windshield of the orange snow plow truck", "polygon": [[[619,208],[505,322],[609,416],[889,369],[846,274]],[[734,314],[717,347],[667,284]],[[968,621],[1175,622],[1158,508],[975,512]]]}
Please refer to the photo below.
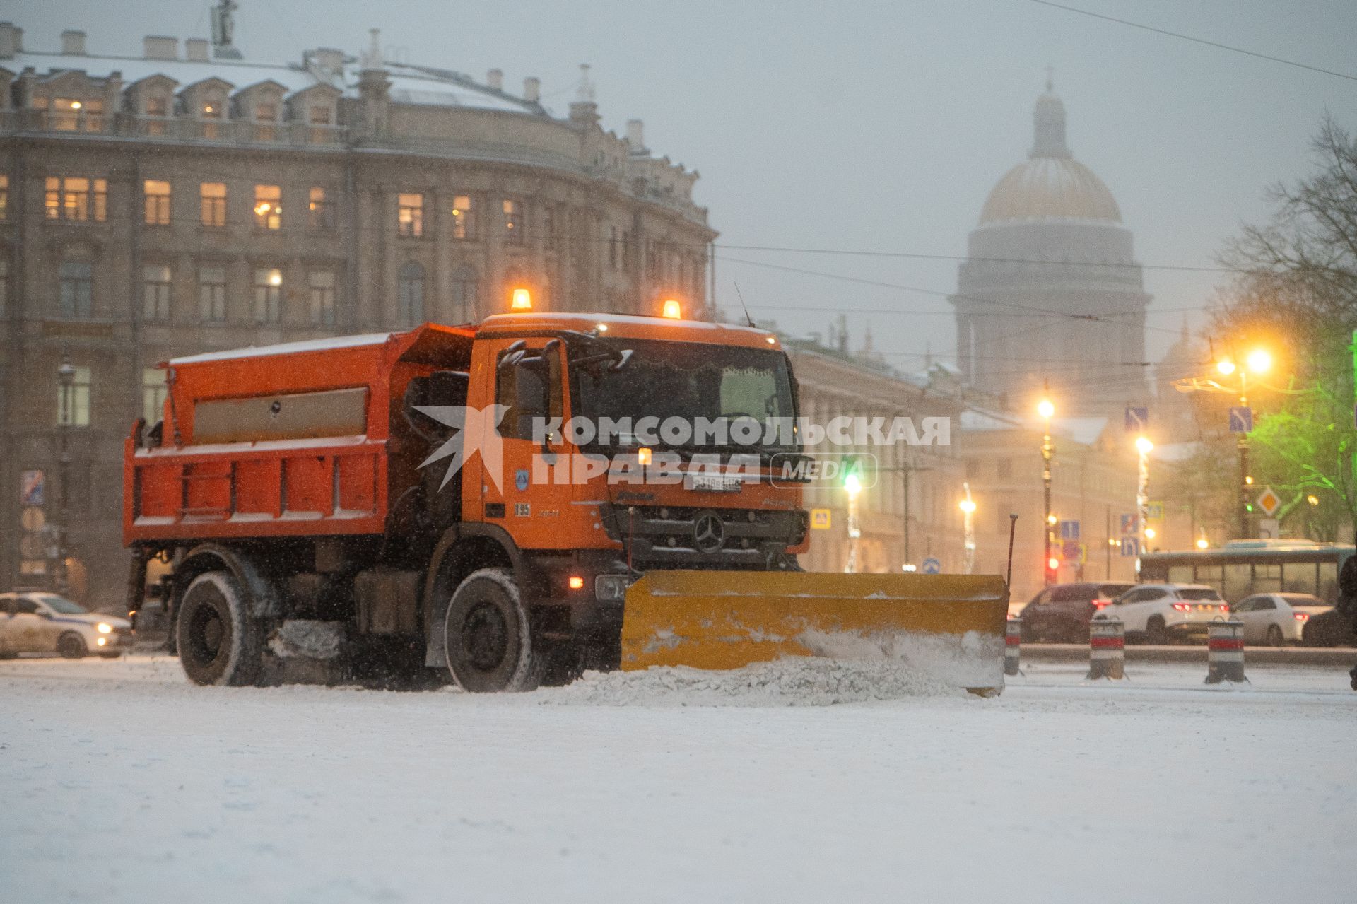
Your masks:
{"label": "front windshield of the orange snow plow truck", "polygon": [[[786,418],[782,423],[790,425],[795,418],[787,357],[782,352],[657,339],[616,343],[631,350],[624,366],[571,368],[575,415],[596,423],[609,418],[632,425],[642,418],[658,418],[660,423],[674,418],[693,429],[665,430],[658,445],[691,451],[740,445],[763,451],[795,448],[787,430],[769,429],[773,419]],[[708,422],[725,418],[731,425],[726,441],[699,434],[699,418]],[[748,419],[761,425],[759,438],[737,444],[740,433],[753,437]],[[745,421],[745,430],[734,429],[737,421]]]}

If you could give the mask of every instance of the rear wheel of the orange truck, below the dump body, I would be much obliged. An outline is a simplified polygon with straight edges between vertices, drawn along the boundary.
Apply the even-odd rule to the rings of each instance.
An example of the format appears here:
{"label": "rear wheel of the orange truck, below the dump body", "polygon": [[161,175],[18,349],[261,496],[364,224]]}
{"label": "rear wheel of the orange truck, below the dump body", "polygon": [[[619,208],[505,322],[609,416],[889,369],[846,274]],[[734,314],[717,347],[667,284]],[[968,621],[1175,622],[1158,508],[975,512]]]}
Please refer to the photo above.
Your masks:
{"label": "rear wheel of the orange truck, below the dump body", "polygon": [[229,571],[189,584],[175,622],[179,664],[195,684],[255,684],[263,664],[263,626]]}

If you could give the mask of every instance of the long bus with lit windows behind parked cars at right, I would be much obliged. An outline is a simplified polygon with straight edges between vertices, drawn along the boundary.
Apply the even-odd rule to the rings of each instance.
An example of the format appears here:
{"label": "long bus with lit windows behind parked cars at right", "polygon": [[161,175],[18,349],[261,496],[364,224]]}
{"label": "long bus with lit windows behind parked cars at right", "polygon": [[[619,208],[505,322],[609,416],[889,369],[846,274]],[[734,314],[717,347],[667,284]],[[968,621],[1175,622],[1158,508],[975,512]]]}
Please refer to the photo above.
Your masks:
{"label": "long bus with lit windows behind parked cars at right", "polygon": [[1311,593],[1338,603],[1338,569],[1357,548],[1314,540],[1231,540],[1220,550],[1147,552],[1145,584],[1206,584],[1229,603],[1254,593]]}

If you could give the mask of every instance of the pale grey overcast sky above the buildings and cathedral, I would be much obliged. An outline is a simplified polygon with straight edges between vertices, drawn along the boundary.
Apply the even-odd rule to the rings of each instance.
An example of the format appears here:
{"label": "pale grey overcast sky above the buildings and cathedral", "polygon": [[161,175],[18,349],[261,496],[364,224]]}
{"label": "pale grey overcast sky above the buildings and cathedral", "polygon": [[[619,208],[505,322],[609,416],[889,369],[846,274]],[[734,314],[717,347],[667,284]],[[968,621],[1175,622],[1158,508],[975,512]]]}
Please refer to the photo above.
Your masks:
{"label": "pale grey overcast sky above the buildings and cathedral", "polygon": [[[1357,73],[1353,0],[1069,0],[1106,15]],[[9,0],[28,49],[64,29],[92,53],[140,53],[145,34],[208,37],[206,0]],[[1171,343],[1185,308],[1206,304],[1213,266],[1263,190],[1305,172],[1330,110],[1357,128],[1357,81],[1038,5],[1031,0],[240,0],[247,58],[296,61],[303,48],[358,52],[368,29],[411,62],[517,88],[543,79],[565,115],[577,65],[593,65],[604,128],[646,122],[646,141],[702,171],[696,198],[727,246],[963,255],[985,195],[1031,145],[1046,65],[1069,115],[1075,157],[1111,189],[1155,296],[1148,349]],[[795,334],[848,315],[854,343],[917,368],[925,343],[950,356],[943,295],[955,261],[862,259],[725,248],[718,301],[733,284]],[[737,262],[741,261],[741,262]],[[763,262],[927,289],[873,288]],[[1197,315],[1194,315],[1197,316]],[[1197,316],[1200,320],[1200,316]]]}

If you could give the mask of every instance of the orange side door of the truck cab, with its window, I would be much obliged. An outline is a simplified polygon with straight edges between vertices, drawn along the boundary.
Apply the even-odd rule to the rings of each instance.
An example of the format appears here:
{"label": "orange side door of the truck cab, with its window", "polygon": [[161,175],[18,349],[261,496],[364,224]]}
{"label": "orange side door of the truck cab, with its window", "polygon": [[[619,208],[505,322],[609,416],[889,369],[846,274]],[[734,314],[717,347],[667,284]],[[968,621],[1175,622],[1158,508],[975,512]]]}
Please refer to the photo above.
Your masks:
{"label": "orange side door of the truck cab, with its window", "polygon": [[482,510],[486,523],[499,524],[522,548],[565,548],[571,538],[562,535],[562,517],[571,501],[569,479],[556,481],[554,468],[569,475],[570,456],[560,429],[569,417],[565,391],[565,347],[540,338],[499,342],[493,349],[494,403],[505,413],[499,421],[499,481],[493,479],[493,462],[486,467]]}

